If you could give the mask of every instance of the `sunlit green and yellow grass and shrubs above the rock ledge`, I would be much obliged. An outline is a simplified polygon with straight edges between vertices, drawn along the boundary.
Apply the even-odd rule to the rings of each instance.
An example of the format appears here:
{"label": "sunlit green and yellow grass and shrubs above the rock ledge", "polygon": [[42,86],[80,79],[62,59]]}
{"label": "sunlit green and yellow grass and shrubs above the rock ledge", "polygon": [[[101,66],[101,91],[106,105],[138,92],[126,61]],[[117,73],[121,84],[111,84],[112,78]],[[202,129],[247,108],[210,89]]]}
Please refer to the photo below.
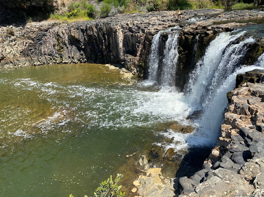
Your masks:
{"label": "sunlit green and yellow grass and shrubs above the rock ledge", "polygon": [[[253,3],[236,3],[236,0],[59,0],[67,6],[62,14],[50,14],[49,20],[85,21],[115,16],[118,13],[145,13],[152,11],[186,10],[205,8],[250,7]],[[30,21],[30,20],[29,20]]]}

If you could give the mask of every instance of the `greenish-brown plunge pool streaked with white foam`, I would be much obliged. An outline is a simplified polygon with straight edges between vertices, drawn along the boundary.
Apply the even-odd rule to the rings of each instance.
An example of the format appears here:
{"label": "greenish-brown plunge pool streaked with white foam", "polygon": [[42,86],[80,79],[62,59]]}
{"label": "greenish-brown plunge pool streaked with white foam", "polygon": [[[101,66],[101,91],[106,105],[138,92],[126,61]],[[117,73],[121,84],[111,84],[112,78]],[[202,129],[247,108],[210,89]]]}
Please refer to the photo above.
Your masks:
{"label": "greenish-brown plunge pool streaked with white foam", "polygon": [[163,137],[162,123],[182,119],[181,93],[104,65],[2,69],[0,78],[0,196],[92,195],[126,171],[126,155]]}

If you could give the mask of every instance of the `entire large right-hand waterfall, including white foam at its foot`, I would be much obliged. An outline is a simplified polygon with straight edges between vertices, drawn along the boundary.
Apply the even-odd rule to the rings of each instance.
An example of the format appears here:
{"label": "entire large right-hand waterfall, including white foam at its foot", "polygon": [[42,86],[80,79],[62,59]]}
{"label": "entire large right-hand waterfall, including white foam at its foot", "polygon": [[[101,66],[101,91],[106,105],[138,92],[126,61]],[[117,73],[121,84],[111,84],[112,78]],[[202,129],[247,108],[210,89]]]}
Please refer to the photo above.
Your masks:
{"label": "entire large right-hand waterfall, including white foam at its foot", "polygon": [[[196,126],[191,134],[182,134],[172,130],[162,132],[168,138],[174,137],[174,143],[162,145],[166,148],[186,149],[189,146],[214,145],[219,137],[220,125],[223,122],[224,109],[227,107],[226,93],[235,87],[237,74],[244,73],[255,68],[264,68],[264,54],[258,58],[254,66],[241,66],[248,43],[255,42],[253,38],[230,45],[230,41],[241,37],[243,32],[220,33],[206,49],[205,56],[196,65],[192,72],[191,80],[187,86],[187,95],[182,101],[188,108],[182,111],[192,113],[202,110],[201,117],[187,124]],[[178,107],[181,107],[180,104]],[[186,121],[185,123],[186,124]]]}

